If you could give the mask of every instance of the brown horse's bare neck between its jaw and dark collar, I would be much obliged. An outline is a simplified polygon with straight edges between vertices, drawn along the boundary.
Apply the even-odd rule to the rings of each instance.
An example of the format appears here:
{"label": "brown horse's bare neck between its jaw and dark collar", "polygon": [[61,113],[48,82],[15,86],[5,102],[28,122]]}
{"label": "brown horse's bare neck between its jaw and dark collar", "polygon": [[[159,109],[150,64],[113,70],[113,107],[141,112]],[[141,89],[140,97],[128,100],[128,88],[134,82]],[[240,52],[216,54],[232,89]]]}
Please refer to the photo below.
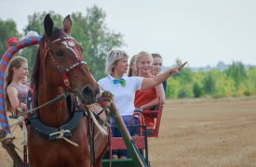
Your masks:
{"label": "brown horse's bare neck between its jaw and dark collar", "polygon": [[[65,89],[61,86],[54,86],[50,83],[40,81],[37,93],[38,106],[46,104],[51,99],[63,94],[64,91]],[[66,100],[61,100],[39,109],[39,115],[42,122],[54,127],[58,127],[70,119]]]}

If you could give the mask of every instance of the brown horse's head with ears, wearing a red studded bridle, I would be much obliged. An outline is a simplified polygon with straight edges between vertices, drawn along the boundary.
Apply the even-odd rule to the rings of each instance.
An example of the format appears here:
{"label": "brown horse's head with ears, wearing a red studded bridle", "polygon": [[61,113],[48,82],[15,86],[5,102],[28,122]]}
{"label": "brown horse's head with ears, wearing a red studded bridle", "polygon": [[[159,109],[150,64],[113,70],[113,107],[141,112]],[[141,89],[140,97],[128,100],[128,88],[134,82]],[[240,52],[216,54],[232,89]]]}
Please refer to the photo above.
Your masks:
{"label": "brown horse's head with ears, wearing a red studded bridle", "polygon": [[39,60],[35,65],[37,70],[34,70],[33,74],[35,84],[36,78],[39,84],[40,69],[44,71],[45,80],[51,85],[65,87],[78,96],[84,104],[94,103],[99,96],[99,85],[88,70],[86,61],[83,60],[82,46],[71,37],[70,16],[63,20],[63,28],[59,29],[54,27],[53,20],[47,14],[44,28],[45,34],[38,50]]}

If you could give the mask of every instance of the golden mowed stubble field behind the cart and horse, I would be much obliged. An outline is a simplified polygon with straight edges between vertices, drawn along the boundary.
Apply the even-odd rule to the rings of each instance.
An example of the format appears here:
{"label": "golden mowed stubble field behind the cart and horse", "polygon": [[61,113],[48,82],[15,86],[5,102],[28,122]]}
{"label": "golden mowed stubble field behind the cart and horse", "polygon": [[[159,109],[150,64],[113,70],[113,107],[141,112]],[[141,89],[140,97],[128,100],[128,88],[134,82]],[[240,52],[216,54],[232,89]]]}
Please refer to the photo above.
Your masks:
{"label": "golden mowed stubble field behind the cart and horse", "polygon": [[[149,139],[152,166],[256,166],[256,96],[168,100],[160,126]],[[0,166],[11,166],[3,148]]]}

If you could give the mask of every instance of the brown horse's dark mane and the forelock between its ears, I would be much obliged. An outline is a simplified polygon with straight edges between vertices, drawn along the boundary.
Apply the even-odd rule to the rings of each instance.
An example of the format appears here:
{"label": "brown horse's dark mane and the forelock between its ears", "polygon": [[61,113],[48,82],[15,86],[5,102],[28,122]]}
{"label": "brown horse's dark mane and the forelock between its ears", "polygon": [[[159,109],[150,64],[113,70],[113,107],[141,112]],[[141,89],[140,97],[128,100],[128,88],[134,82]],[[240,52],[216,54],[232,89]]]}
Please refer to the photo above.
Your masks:
{"label": "brown horse's dark mane and the forelock between its ears", "polygon": [[[50,41],[60,38],[61,32],[62,30],[60,28],[54,27],[52,31],[52,35],[49,38]],[[44,57],[42,55],[46,52],[46,50],[44,50],[46,48],[45,40],[46,40],[46,34],[44,34],[41,39],[39,48],[37,50],[37,56],[34,60],[34,68],[33,68],[32,77],[31,77],[31,86],[34,86],[34,91],[37,90],[37,87],[39,85],[40,57]]]}

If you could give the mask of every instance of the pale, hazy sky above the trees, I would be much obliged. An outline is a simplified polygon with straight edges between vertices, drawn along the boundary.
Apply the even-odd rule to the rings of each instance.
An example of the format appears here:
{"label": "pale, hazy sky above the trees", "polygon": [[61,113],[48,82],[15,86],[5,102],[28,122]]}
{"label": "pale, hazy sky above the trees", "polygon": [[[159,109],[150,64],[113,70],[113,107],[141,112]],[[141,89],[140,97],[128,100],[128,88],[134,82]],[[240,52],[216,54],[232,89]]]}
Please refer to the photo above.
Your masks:
{"label": "pale, hazy sky above the trees", "polygon": [[0,0],[0,19],[13,19],[22,32],[34,12],[86,15],[94,5],[106,13],[106,26],[123,34],[120,49],[130,56],[159,53],[164,66],[177,58],[189,67],[256,65],[255,0]]}

